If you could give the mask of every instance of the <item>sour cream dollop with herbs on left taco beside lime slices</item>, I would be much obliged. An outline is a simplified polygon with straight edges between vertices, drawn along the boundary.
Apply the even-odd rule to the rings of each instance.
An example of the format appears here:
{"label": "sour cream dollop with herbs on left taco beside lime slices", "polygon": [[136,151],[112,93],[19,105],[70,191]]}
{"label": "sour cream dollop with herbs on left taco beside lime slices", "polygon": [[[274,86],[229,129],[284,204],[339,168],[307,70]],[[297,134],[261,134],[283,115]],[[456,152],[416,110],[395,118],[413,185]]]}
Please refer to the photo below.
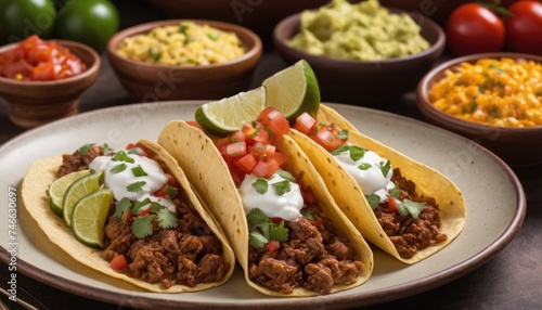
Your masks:
{"label": "sour cream dollop with herbs on left taco beside lime slices", "polygon": [[[99,156],[90,163],[92,170],[104,171],[104,183],[113,191],[116,201],[124,197],[132,202],[150,198],[175,212],[175,205],[167,198],[153,194],[168,182],[168,177],[155,160],[134,153],[125,153],[126,157]],[[131,158],[131,159],[128,159]],[[146,176],[145,176],[146,175]]]}

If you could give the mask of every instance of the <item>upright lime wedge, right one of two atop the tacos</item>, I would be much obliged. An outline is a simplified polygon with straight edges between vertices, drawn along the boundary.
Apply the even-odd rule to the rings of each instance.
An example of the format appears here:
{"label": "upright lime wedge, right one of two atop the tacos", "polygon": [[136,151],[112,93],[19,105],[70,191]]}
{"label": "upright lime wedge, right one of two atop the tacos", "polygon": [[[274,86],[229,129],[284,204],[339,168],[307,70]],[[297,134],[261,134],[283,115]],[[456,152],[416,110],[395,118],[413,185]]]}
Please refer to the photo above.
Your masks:
{"label": "upright lime wedge, right one of two atop the tacos", "polygon": [[304,112],[313,117],[320,107],[320,87],[309,63],[300,60],[263,80],[267,106],[276,107],[289,120]]}

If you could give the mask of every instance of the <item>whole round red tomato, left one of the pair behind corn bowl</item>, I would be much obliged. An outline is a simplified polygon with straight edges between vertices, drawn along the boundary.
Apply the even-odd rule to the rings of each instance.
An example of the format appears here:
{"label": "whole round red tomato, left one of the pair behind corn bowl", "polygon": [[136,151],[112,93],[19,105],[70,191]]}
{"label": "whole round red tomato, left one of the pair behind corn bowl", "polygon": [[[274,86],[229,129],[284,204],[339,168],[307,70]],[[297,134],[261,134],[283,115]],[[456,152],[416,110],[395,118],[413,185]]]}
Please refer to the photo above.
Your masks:
{"label": "whole round red tomato, left one of the pair behind corn bowl", "polygon": [[498,52],[504,47],[504,23],[499,16],[477,3],[455,9],[446,25],[448,47],[456,55]]}

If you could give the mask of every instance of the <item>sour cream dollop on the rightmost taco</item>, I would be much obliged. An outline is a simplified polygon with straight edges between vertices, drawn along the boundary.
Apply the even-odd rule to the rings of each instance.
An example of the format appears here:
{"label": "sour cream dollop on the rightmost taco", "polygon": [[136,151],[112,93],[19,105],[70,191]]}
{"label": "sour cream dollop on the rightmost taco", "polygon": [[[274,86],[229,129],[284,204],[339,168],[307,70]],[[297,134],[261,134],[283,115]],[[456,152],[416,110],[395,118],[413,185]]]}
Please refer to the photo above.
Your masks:
{"label": "sour cream dollop on the rightmost taco", "polygon": [[[380,197],[380,202],[385,202],[389,191],[396,186],[391,182],[393,175],[391,165],[389,165],[389,169],[384,169],[388,159],[372,151],[364,151],[363,157],[358,160],[351,158],[350,150],[345,150],[334,157],[352,176],[364,195],[376,194]],[[386,175],[385,170],[387,170]]]}

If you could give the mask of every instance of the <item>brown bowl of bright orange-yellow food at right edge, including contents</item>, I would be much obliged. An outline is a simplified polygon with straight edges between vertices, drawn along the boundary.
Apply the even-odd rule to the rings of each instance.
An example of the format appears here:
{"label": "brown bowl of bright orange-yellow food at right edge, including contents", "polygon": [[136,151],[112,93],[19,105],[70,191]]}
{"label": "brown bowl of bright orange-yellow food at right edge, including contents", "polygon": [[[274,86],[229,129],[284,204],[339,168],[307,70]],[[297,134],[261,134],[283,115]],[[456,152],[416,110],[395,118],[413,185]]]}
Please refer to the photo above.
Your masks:
{"label": "brown bowl of bright orange-yellow food at right edge, including contents", "polygon": [[541,56],[500,52],[452,59],[424,76],[416,96],[428,122],[472,139],[508,165],[542,163]]}

